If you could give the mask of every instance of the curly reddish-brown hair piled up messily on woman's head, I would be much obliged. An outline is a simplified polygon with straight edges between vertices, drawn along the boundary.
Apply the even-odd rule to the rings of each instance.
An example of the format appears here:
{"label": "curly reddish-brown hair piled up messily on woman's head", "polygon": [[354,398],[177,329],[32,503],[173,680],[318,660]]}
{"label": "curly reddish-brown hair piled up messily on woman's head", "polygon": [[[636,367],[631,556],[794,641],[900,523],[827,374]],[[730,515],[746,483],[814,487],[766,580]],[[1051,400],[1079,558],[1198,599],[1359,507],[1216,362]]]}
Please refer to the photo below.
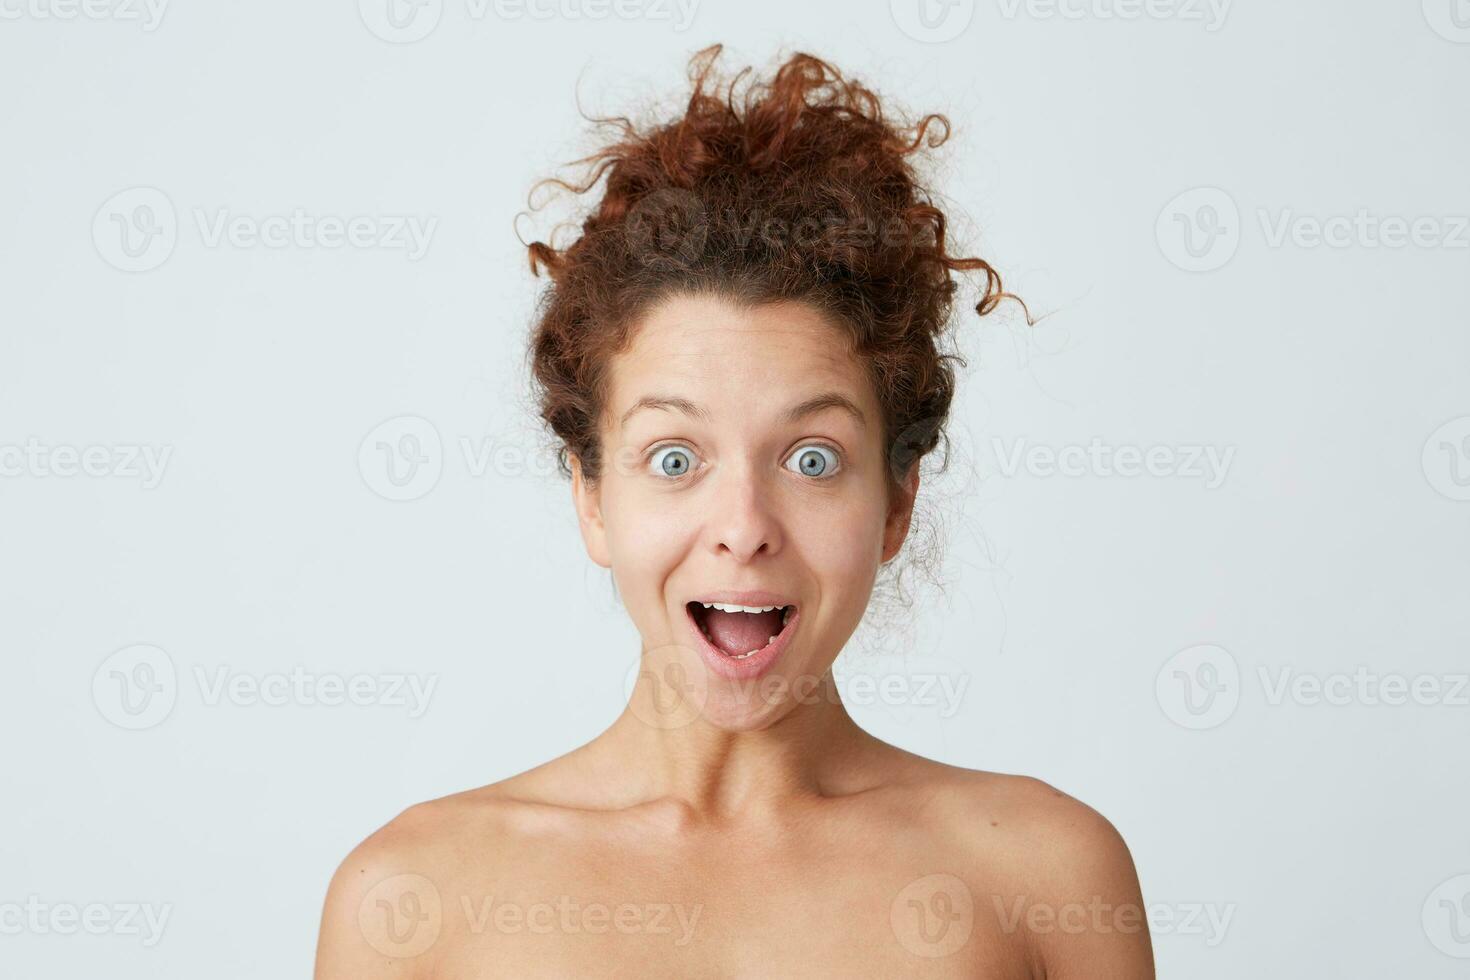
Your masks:
{"label": "curly reddish-brown hair piled up messily on woman's head", "polygon": [[[528,357],[557,458],[601,473],[598,423],[610,359],[638,319],[669,294],[717,294],[742,306],[798,300],[851,339],[883,413],[889,491],[938,444],[954,397],[944,336],[958,270],[983,275],[975,311],[1010,297],[991,264],[947,251],[945,215],[929,200],[911,154],[950,137],[942,115],[911,125],[885,118],[879,98],[832,65],[792,54],[742,98],[729,81],[707,91],[722,46],[689,62],[684,115],[576,160],[582,194],[607,178],[581,235],[557,250],[528,245],[550,276]],[[1014,297],[1010,297],[1014,298]],[[1025,309],[1025,306],[1023,306]]]}

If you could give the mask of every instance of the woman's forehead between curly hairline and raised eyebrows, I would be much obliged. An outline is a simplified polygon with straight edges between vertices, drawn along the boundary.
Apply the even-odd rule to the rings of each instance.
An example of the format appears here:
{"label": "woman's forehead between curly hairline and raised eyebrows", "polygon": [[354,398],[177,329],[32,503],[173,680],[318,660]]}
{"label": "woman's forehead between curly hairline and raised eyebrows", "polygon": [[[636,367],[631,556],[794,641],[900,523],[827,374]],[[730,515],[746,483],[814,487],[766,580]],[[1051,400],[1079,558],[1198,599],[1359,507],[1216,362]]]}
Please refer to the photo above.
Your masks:
{"label": "woman's forehead between curly hairline and raised eyebrows", "polygon": [[876,401],[850,344],[804,303],[742,309],[719,297],[670,297],[613,359],[609,407],[616,419],[635,400],[659,392],[711,411],[776,413],[811,391],[835,389],[875,417]]}

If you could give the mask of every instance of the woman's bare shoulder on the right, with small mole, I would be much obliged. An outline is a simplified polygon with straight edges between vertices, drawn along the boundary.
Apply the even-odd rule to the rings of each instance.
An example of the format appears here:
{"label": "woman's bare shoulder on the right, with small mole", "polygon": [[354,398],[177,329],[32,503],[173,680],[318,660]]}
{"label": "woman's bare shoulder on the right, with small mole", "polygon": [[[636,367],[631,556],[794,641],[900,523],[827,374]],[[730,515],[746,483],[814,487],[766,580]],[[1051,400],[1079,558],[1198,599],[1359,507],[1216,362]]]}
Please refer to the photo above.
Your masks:
{"label": "woman's bare shoulder on the right, with small mole", "polygon": [[913,770],[978,926],[1020,936],[1048,980],[1151,980],[1152,948],[1127,843],[1085,802],[1028,776]]}

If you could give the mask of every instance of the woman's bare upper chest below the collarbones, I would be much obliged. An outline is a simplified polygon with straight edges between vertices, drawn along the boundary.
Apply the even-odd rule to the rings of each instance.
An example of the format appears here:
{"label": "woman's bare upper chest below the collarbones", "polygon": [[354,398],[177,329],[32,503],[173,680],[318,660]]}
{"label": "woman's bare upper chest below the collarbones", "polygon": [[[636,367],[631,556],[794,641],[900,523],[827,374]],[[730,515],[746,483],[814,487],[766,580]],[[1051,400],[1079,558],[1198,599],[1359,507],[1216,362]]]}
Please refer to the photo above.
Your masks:
{"label": "woman's bare upper chest below the collarbones", "polygon": [[[419,927],[432,976],[1022,979],[989,896],[938,855],[526,854],[444,876]],[[407,927],[407,926],[404,926]],[[420,962],[423,961],[420,959]]]}

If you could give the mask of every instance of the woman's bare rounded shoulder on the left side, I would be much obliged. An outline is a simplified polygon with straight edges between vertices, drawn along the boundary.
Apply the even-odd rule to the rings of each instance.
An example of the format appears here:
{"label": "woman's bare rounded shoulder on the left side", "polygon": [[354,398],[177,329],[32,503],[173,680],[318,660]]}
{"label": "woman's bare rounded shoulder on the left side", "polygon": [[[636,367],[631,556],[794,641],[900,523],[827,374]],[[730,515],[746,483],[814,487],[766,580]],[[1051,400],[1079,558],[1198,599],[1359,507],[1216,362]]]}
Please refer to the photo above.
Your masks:
{"label": "woman's bare rounded shoulder on the left side", "polygon": [[347,854],[326,889],[316,980],[432,976],[445,896],[514,848],[507,786],[409,807]]}

